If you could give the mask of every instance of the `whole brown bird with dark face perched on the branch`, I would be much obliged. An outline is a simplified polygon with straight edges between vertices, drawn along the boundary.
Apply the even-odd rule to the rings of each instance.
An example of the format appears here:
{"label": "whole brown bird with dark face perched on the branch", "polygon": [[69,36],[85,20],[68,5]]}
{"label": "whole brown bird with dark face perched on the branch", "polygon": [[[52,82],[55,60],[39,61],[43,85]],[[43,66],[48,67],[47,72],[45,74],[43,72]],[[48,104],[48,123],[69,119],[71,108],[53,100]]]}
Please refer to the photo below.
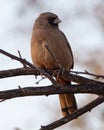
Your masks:
{"label": "whole brown bird with dark face perched on the branch", "polygon": [[[73,68],[72,50],[58,27],[60,22],[58,16],[50,12],[42,13],[36,19],[31,38],[31,56],[36,67],[52,70]],[[59,77],[56,80],[63,85],[71,83]],[[73,94],[59,94],[59,99],[63,116],[77,110]]]}

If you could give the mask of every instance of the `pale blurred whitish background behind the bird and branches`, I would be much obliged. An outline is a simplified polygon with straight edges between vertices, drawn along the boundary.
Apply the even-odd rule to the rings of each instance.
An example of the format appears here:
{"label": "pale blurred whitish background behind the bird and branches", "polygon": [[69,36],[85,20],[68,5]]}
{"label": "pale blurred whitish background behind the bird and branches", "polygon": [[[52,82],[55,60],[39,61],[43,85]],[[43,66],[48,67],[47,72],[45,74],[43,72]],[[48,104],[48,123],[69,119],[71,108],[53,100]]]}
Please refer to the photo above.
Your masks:
{"label": "pale blurred whitish background behind the bird and branches", "polygon": [[[62,20],[60,29],[71,44],[74,70],[104,75],[104,1],[103,0],[0,0],[0,49],[14,55],[18,50],[31,61],[32,27],[42,12],[56,13]],[[0,70],[22,67],[17,61],[0,54]],[[34,76],[0,79],[0,91],[38,85]],[[78,107],[95,95],[77,94]],[[0,103],[1,130],[37,130],[61,117],[58,96],[24,97]],[[57,130],[104,130],[104,104]]]}

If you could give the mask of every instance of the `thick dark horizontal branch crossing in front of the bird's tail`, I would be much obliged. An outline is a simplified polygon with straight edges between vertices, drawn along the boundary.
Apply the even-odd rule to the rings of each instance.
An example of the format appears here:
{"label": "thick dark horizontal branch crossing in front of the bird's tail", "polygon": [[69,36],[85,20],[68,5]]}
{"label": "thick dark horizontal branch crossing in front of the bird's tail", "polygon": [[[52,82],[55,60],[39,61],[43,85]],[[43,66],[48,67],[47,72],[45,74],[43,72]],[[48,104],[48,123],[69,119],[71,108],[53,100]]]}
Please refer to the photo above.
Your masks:
{"label": "thick dark horizontal branch crossing in front of the bird's tail", "polygon": [[[21,88],[21,87],[20,87]],[[104,95],[104,85],[102,86],[93,86],[90,85],[66,85],[58,86],[49,85],[44,87],[25,87],[21,89],[5,90],[0,91],[0,99],[11,99],[16,97],[24,96],[42,96],[42,95],[54,95],[54,94],[63,94],[63,93],[92,93]],[[22,91],[21,91],[22,90]]]}

